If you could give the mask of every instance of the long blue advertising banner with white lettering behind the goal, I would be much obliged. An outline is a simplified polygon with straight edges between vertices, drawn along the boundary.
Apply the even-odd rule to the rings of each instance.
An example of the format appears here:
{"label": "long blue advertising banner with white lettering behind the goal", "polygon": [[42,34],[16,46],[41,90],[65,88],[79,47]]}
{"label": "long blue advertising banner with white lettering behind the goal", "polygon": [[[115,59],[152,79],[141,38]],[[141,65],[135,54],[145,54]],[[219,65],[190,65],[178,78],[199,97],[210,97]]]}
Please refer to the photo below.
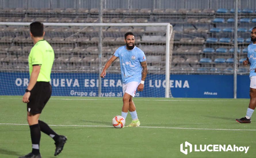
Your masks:
{"label": "long blue advertising banner with white lettering behind the goal", "polygon": [[[98,74],[52,73],[53,96],[98,96]],[[0,95],[23,95],[28,73],[0,72]],[[233,75],[171,75],[173,97],[233,98]],[[238,75],[237,98],[249,98],[249,75]],[[122,97],[120,74],[102,79],[103,97]],[[165,97],[165,75],[148,74],[143,92],[136,97]]]}

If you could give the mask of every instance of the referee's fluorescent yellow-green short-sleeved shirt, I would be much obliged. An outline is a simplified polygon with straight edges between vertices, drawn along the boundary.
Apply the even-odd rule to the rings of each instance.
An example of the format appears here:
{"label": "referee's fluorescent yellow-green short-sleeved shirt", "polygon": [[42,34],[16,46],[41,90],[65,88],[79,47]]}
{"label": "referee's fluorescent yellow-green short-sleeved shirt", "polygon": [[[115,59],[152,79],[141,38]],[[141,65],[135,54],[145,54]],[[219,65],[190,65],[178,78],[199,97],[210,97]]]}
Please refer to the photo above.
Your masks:
{"label": "referee's fluorescent yellow-green short-sleeved shirt", "polygon": [[54,51],[51,45],[43,39],[39,40],[28,55],[29,75],[31,76],[33,65],[41,65],[37,81],[49,82],[53,61]]}

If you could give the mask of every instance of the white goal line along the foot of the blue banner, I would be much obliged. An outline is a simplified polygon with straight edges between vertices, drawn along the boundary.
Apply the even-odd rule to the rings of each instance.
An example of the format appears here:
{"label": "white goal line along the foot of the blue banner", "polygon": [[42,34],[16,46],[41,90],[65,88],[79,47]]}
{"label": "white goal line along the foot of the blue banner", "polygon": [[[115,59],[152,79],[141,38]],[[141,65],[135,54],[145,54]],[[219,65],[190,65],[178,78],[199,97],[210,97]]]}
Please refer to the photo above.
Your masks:
{"label": "white goal line along the foot of the blue banner", "polygon": [[[20,98],[0,98],[0,99],[20,99]],[[22,100],[22,99],[20,99]],[[69,99],[69,98],[51,98],[50,100],[70,100],[70,101],[74,101],[74,100],[80,100],[80,101],[113,101],[113,99],[79,99],[79,98],[76,98],[76,99]],[[114,101],[119,101],[119,100],[114,100]],[[138,99],[136,101],[152,101],[150,99]],[[248,102],[248,100],[163,100],[163,99],[154,99],[154,101],[202,101],[202,102],[228,102],[228,101],[235,101],[235,102]]]}

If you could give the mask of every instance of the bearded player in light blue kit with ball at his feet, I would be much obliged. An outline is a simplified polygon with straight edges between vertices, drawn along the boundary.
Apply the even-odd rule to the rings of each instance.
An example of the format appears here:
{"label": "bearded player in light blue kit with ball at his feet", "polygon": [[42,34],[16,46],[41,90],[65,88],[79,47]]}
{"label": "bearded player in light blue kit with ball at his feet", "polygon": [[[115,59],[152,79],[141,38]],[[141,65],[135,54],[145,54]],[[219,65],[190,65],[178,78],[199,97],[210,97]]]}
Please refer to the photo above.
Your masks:
{"label": "bearded player in light blue kit with ball at his feet", "polygon": [[132,98],[135,96],[136,90],[143,91],[148,68],[145,53],[135,46],[135,35],[132,32],[125,34],[125,44],[125,46],[119,47],[106,62],[100,77],[104,78],[106,76],[106,70],[119,57],[124,94],[121,114],[126,119],[129,110],[132,122],[128,126],[138,127],[140,121]]}

